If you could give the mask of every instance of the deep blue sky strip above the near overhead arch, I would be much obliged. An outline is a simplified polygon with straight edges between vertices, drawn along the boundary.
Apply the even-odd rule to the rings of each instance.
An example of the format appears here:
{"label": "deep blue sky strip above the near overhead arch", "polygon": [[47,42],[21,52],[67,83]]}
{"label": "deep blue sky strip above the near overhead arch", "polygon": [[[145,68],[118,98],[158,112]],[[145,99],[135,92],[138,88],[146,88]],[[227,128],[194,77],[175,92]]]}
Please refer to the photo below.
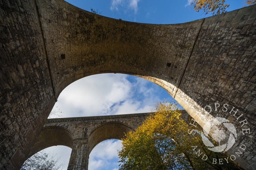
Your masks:
{"label": "deep blue sky strip above the near overhead arch", "polygon": [[[125,21],[150,24],[177,24],[210,17],[190,9],[190,0],[68,0],[86,11],[98,9],[101,15]],[[243,0],[226,0],[228,11],[245,6]]]}

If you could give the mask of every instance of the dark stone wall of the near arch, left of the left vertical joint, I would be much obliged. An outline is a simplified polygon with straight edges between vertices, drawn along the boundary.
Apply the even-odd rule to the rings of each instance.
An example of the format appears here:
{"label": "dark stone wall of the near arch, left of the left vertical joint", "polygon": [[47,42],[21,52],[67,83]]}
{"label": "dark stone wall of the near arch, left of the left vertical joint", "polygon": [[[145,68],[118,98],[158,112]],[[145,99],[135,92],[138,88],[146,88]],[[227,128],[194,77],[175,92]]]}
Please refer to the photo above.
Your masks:
{"label": "dark stone wall of the near arch, left of the left vertical joint", "polygon": [[0,1],[0,169],[19,169],[55,99],[33,0]]}

